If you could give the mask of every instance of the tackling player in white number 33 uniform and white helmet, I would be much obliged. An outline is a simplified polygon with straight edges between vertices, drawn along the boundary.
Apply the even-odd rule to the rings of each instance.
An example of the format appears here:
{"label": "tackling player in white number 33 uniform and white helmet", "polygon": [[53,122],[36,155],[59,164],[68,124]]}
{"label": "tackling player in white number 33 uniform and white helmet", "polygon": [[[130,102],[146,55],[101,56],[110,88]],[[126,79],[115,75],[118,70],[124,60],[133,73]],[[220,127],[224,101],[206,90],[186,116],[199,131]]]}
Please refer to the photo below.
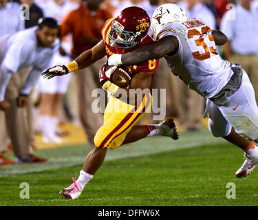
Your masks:
{"label": "tackling player in white number 33 uniform and white helmet", "polygon": [[203,21],[188,20],[180,6],[170,3],[155,10],[151,28],[155,43],[114,54],[109,65],[164,57],[173,74],[207,99],[211,133],[244,150],[246,160],[236,177],[246,177],[258,165],[258,107],[246,72],[217,54],[215,45],[226,43],[226,35]]}

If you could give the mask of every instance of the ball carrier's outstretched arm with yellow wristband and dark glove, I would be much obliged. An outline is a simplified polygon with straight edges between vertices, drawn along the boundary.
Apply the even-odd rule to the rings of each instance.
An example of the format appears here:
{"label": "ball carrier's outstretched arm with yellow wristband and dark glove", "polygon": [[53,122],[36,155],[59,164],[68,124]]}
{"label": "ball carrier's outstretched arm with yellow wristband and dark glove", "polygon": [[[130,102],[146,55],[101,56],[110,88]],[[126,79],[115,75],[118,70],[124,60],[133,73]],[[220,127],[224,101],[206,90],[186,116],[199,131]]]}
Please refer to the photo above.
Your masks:
{"label": "ball carrier's outstretched arm with yellow wristband and dark glove", "polygon": [[92,47],[92,49],[87,50],[80,54],[74,61],[68,63],[67,65],[57,65],[50,67],[41,75],[44,78],[50,79],[54,76],[63,76],[71,72],[75,72],[78,69],[84,69],[89,67],[96,61],[100,60],[105,56],[105,43],[100,41],[97,45]]}

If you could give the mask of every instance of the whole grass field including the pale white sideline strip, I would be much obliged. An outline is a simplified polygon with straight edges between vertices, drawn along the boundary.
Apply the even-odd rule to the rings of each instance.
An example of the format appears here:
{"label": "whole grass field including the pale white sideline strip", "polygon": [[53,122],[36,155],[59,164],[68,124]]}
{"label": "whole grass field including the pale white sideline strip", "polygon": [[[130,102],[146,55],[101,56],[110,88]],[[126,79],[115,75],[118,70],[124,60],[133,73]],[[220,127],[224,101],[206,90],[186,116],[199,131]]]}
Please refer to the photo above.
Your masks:
{"label": "whole grass field including the pale white sideline strip", "polygon": [[[74,201],[58,195],[79,173],[91,148],[83,145],[37,151],[47,164],[0,168],[0,206],[257,206],[258,170],[244,179],[235,171],[243,153],[207,130],[180,133],[177,142],[151,137],[109,151],[103,166]],[[30,199],[20,199],[21,182]],[[236,199],[227,199],[228,182]]]}

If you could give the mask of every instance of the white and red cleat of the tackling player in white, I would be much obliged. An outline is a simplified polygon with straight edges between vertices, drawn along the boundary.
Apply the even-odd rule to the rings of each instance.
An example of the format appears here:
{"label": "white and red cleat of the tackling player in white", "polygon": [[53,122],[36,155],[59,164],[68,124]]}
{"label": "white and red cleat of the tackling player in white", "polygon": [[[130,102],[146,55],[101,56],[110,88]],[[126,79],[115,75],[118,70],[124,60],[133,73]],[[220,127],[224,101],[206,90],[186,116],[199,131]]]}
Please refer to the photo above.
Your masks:
{"label": "white and red cleat of the tackling player in white", "polygon": [[235,173],[235,176],[237,178],[246,177],[247,175],[250,175],[250,173],[252,173],[255,167],[258,165],[258,155],[250,157],[245,153],[244,157],[246,157],[244,164]]}

